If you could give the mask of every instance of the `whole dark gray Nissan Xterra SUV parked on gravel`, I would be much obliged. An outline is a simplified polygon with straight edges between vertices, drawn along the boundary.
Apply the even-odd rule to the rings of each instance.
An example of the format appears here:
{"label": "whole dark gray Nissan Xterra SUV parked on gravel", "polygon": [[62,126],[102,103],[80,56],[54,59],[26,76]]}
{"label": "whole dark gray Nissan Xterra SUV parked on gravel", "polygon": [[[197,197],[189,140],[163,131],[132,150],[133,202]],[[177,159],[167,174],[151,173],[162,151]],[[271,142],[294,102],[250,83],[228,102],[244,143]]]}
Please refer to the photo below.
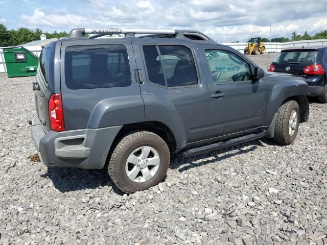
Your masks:
{"label": "whole dark gray Nissan Xterra SUV parked on gravel", "polygon": [[41,161],[106,166],[126,193],[162,181],[171,153],[291,144],[309,116],[305,79],[267,74],[197,31],[74,29],[43,47],[33,89]]}

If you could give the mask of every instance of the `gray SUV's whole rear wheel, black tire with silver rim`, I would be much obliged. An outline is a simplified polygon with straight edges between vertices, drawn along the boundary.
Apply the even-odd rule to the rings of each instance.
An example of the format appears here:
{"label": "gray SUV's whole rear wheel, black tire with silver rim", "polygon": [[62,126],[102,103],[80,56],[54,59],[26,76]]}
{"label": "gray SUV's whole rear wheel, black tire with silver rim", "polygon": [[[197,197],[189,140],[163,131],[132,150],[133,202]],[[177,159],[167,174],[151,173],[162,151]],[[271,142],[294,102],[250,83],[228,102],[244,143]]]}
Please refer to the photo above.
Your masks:
{"label": "gray SUV's whole rear wheel, black tire with silver rim", "polygon": [[157,185],[166,176],[170,152],[166,142],[149,131],[128,134],[116,145],[108,164],[108,174],[125,193]]}

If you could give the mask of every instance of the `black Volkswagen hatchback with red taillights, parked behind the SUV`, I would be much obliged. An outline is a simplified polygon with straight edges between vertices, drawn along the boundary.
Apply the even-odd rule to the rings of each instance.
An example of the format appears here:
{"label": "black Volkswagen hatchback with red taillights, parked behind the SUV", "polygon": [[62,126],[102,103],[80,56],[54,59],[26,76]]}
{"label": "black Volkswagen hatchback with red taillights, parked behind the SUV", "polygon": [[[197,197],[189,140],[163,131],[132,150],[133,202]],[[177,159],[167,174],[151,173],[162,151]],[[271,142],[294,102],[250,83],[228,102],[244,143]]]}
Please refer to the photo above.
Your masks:
{"label": "black Volkswagen hatchback with red taillights, parked behind the SUV", "polygon": [[327,46],[282,50],[270,64],[268,71],[305,78],[311,90],[308,96],[318,97],[321,103],[327,103]]}

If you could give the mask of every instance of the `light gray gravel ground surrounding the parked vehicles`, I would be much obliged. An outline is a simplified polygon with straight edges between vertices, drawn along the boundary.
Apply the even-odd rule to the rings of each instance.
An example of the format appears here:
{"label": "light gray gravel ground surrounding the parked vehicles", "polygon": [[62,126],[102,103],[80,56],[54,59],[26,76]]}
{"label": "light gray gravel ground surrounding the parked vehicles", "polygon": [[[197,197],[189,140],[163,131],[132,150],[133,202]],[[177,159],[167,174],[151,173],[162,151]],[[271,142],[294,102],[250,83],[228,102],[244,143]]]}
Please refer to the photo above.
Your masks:
{"label": "light gray gravel ground surrounding the parked vehicles", "polygon": [[173,156],[126,195],[103,170],[29,161],[33,79],[0,75],[0,244],[327,244],[327,106],[311,100],[292,145]]}

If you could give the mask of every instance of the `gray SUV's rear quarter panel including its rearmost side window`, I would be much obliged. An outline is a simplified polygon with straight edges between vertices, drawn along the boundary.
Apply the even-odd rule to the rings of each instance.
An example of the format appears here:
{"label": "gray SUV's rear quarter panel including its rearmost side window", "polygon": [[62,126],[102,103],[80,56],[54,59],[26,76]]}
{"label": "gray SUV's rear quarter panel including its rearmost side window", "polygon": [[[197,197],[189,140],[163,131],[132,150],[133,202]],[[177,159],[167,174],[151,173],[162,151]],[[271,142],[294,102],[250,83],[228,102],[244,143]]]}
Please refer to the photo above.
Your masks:
{"label": "gray SUV's rear quarter panel including its rearmost side window", "polygon": [[61,92],[66,130],[145,120],[129,38],[81,38],[61,45]]}

